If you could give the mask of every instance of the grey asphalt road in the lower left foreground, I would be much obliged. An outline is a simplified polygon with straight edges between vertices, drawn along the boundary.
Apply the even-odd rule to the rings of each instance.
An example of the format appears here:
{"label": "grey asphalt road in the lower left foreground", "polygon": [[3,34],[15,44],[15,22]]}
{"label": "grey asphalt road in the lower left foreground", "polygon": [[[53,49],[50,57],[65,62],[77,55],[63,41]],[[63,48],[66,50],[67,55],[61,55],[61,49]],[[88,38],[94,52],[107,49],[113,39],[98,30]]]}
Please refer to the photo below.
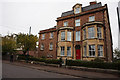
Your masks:
{"label": "grey asphalt road in the lower left foreground", "polygon": [[75,78],[69,75],[46,72],[7,63],[3,63],[2,70],[3,78]]}

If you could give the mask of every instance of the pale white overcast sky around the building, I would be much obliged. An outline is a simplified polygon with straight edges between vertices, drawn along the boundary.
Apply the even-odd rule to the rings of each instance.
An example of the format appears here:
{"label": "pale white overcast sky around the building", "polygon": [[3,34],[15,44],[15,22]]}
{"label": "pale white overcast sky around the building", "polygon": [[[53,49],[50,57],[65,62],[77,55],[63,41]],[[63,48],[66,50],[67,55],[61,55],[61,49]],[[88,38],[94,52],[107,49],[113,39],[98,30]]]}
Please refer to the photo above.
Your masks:
{"label": "pale white overcast sky around the building", "polygon": [[[72,10],[76,3],[89,5],[95,0],[1,0],[0,2],[0,34],[31,33],[38,36],[40,30],[56,25],[57,17],[62,12]],[[113,38],[113,48],[118,47],[117,6],[119,0],[96,0],[102,5],[108,4],[110,25]]]}

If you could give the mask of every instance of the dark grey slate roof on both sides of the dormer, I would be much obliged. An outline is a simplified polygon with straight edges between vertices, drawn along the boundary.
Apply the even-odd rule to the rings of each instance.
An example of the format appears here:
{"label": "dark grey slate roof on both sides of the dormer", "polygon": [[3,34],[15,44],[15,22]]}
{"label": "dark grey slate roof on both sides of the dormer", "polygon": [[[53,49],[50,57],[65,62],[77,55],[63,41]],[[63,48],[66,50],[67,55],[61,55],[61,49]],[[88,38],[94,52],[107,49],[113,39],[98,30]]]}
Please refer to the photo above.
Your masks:
{"label": "dark grey slate roof on both sides of the dormer", "polygon": [[[91,10],[91,9],[95,9],[95,8],[99,8],[101,6],[102,6],[102,4],[100,2],[100,3],[97,3],[97,4],[93,4],[93,5],[89,5],[89,6],[86,6],[86,7],[82,7],[82,12],[88,11],[88,10]],[[74,14],[73,10],[67,11],[67,12],[63,12],[61,17],[68,16],[68,15],[71,15],[71,14]]]}

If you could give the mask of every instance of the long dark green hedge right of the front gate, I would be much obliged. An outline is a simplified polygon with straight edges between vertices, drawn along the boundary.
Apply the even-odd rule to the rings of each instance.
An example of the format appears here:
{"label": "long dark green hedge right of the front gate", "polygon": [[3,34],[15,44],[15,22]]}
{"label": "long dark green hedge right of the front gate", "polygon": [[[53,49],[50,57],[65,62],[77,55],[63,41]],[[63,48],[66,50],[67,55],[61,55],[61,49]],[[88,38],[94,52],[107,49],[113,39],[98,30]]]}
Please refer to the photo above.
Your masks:
{"label": "long dark green hedge right of the front gate", "polygon": [[83,67],[91,67],[91,68],[120,70],[120,63],[112,63],[112,62],[94,62],[94,61],[67,60],[66,65],[68,65],[68,66],[83,66]]}

